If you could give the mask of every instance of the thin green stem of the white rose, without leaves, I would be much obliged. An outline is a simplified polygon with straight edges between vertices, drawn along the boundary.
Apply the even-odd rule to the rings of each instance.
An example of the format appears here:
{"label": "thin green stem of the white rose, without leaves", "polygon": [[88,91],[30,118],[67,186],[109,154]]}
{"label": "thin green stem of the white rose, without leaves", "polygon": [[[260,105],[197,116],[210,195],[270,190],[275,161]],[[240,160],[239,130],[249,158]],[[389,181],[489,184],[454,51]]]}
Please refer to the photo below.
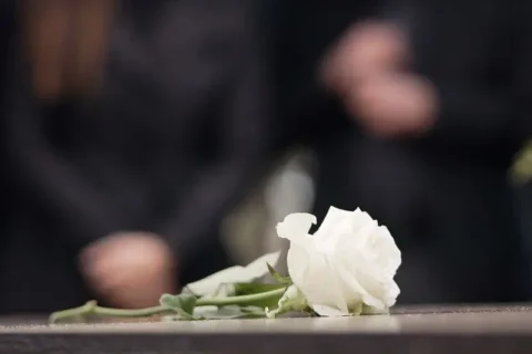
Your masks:
{"label": "thin green stem of the white rose, without leaves", "polygon": [[[242,305],[249,306],[262,303],[266,300],[282,296],[285,288],[262,292],[258,294],[228,296],[228,298],[201,298],[197,299],[197,306],[227,306]],[[172,309],[164,306],[152,306],[137,310],[112,309],[96,305],[95,301],[89,301],[83,306],[58,311],[50,316],[50,323],[58,323],[64,320],[83,319],[88,315],[100,315],[117,319],[151,317],[162,314],[174,313]]]}

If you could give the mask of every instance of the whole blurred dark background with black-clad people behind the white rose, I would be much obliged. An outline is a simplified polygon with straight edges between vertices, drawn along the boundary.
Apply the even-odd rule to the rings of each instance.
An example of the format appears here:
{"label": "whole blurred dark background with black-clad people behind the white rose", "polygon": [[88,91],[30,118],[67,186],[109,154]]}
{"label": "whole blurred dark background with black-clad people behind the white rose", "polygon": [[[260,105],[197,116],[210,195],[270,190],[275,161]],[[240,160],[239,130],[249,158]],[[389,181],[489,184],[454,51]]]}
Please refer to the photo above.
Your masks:
{"label": "whole blurred dark background with black-clad people behind the white rose", "polygon": [[119,308],[360,207],[399,303],[532,296],[532,3],[6,0],[0,314]]}

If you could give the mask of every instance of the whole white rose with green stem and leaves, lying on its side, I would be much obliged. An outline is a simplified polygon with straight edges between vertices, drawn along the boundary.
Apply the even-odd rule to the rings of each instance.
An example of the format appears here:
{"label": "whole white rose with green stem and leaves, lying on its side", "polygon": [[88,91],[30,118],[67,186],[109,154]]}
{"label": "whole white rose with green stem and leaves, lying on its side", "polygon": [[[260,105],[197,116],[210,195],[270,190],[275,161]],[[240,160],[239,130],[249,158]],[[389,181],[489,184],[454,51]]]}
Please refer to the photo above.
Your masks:
{"label": "whole white rose with green stem and leaves, lying on its side", "polygon": [[[185,287],[181,294],[163,294],[158,306],[121,310],[94,301],[55,312],[51,322],[84,321],[86,316],[151,317],[166,321],[276,317],[288,312],[321,316],[387,313],[399,295],[393,277],[401,252],[390,232],[357,209],[330,208],[318,231],[316,217],[291,214],[277,225],[290,241],[289,277],[276,264],[280,252],[247,267],[232,267]],[[260,283],[267,272],[277,283]]]}

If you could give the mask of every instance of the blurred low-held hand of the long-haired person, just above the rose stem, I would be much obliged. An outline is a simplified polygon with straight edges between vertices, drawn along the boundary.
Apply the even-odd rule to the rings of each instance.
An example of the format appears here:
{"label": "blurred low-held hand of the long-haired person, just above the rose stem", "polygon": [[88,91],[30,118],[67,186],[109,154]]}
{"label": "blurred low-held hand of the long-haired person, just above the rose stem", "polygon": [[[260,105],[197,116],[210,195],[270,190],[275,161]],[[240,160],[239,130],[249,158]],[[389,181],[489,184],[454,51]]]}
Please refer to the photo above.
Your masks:
{"label": "blurred low-held hand of the long-haired person, just above the rose stem", "polygon": [[110,235],[86,247],[80,262],[92,289],[115,306],[152,306],[161,294],[175,292],[172,252],[152,233]]}

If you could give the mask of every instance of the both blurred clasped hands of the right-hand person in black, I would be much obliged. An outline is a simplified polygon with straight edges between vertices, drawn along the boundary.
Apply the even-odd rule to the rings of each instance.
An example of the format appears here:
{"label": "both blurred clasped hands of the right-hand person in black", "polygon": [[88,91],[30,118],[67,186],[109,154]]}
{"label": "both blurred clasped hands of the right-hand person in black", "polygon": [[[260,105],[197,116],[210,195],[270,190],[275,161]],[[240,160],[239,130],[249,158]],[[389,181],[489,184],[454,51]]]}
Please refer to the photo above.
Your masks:
{"label": "both blurred clasped hands of the right-hand person in black", "polygon": [[424,77],[409,71],[410,50],[390,23],[354,25],[326,58],[325,84],[369,134],[423,134],[437,117],[438,95]]}

